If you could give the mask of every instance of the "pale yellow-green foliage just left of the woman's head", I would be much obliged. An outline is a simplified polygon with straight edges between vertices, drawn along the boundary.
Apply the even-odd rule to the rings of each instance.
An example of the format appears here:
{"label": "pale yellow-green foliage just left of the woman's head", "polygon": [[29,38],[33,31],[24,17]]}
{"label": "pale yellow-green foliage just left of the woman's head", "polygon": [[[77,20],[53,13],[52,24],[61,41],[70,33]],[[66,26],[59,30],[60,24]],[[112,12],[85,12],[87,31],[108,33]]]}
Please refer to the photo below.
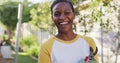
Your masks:
{"label": "pale yellow-green foliage just left of the woman's head", "polygon": [[31,24],[33,24],[37,29],[48,30],[52,25],[52,19],[50,16],[50,2],[40,3],[37,8],[31,10]]}

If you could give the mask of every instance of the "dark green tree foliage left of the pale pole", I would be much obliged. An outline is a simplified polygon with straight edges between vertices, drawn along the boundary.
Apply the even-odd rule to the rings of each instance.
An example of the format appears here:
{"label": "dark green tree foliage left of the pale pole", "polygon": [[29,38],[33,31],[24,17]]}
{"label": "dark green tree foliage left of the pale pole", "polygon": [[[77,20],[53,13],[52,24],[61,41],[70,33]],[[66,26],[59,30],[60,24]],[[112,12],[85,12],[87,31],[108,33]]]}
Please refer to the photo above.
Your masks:
{"label": "dark green tree foliage left of the pale pole", "polygon": [[1,22],[12,30],[17,23],[17,5],[15,2],[6,2],[0,6]]}

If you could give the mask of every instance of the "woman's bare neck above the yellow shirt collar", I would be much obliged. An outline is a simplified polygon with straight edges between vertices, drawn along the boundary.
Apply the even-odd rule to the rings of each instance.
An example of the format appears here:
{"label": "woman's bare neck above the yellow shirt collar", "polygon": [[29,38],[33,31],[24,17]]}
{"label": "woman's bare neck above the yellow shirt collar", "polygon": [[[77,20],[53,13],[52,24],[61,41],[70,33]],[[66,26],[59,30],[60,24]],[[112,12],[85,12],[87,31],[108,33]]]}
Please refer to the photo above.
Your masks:
{"label": "woman's bare neck above the yellow shirt collar", "polygon": [[76,37],[76,34],[72,31],[72,32],[68,32],[68,33],[58,33],[56,35],[57,38],[61,39],[61,40],[65,40],[65,41],[69,41],[72,40]]}

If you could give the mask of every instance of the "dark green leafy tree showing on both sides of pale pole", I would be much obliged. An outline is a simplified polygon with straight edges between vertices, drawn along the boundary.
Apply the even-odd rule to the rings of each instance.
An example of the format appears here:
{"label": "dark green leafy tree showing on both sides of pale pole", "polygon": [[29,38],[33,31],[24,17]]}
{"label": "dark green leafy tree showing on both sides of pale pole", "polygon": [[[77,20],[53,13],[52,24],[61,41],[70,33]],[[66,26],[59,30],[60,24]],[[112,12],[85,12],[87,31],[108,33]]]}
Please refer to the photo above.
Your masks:
{"label": "dark green leafy tree showing on both sides of pale pole", "polygon": [[[31,20],[30,10],[32,6],[30,6],[29,2],[25,0],[23,3],[23,14],[22,14],[22,23],[28,22]],[[13,30],[16,28],[17,24],[17,14],[18,14],[18,2],[6,2],[0,6],[1,13],[1,22],[6,26],[7,33],[11,37],[13,34]]]}

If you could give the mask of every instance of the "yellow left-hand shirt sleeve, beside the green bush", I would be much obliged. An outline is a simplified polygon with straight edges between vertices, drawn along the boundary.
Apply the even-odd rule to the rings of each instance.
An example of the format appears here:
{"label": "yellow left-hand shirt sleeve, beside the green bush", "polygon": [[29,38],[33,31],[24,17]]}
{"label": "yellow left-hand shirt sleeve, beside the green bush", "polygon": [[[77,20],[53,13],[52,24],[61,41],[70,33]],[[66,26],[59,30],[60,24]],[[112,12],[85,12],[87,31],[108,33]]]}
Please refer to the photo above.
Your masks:
{"label": "yellow left-hand shirt sleeve, beside the green bush", "polygon": [[44,43],[39,52],[38,56],[38,63],[52,63],[51,62],[51,48],[52,48],[53,41],[48,40]]}

